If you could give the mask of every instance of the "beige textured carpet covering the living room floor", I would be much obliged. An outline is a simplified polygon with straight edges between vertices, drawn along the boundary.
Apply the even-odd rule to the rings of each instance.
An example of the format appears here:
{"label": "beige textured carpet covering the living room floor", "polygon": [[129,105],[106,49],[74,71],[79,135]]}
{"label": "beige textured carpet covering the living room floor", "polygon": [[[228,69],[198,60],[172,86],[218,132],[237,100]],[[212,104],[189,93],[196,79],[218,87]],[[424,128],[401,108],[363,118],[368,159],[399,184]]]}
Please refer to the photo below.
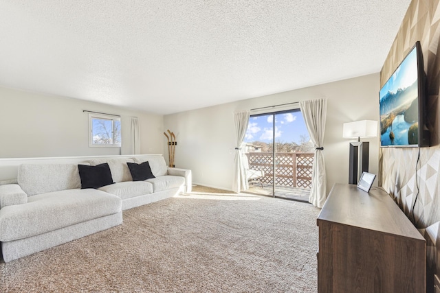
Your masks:
{"label": "beige textured carpet covering the living room floor", "polygon": [[316,292],[319,210],[251,195],[169,198],[121,226],[0,263],[0,292]]}

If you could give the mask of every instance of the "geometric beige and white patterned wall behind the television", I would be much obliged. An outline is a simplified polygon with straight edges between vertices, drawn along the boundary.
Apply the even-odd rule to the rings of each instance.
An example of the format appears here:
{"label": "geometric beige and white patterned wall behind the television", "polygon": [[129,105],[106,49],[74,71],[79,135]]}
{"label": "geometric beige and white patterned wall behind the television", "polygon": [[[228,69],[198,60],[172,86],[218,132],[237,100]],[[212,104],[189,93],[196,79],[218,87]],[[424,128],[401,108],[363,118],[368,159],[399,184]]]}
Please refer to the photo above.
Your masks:
{"label": "geometric beige and white patterned wall behind the television", "polygon": [[[439,2],[413,0],[410,3],[380,75],[382,86],[415,42],[420,41],[427,73],[428,128],[432,147],[380,150],[380,185],[425,235],[430,268],[428,279],[432,278],[432,274],[440,274]],[[428,292],[431,292],[432,282],[428,282],[427,286]]]}

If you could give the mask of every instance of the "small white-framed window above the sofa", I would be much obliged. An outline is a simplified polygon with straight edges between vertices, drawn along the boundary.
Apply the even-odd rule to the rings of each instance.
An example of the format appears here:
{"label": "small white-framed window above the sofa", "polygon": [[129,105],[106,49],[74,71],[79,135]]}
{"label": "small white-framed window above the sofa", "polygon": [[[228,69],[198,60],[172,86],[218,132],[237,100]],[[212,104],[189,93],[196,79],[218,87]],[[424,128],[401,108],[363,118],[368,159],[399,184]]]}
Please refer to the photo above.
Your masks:
{"label": "small white-framed window above the sofa", "polygon": [[120,117],[102,114],[89,114],[89,146],[121,146]]}

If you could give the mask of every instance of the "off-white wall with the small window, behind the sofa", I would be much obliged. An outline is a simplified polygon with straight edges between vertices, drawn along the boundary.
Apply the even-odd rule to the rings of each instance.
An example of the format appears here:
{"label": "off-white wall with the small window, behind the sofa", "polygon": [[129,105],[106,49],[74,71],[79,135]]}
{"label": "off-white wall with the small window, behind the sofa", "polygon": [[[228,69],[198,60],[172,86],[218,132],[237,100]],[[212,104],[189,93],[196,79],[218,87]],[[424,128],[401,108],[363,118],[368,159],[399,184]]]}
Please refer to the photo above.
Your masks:
{"label": "off-white wall with the small window, behind the sofa", "polygon": [[83,110],[120,115],[122,143],[126,119],[138,117],[142,154],[162,153],[162,115],[0,87],[0,158],[120,154],[120,148],[89,147],[89,116]]}

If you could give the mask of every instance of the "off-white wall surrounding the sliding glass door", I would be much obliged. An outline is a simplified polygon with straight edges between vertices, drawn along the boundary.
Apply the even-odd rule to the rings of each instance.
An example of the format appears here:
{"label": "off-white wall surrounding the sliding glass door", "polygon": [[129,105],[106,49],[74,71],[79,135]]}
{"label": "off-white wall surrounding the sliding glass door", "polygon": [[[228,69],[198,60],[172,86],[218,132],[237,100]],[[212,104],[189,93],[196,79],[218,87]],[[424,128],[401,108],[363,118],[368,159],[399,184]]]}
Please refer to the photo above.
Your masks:
{"label": "off-white wall surrounding the sliding glass door", "polygon": [[[349,140],[342,125],[360,119],[379,119],[379,73],[264,97],[245,99],[164,116],[164,129],[175,132],[175,165],[192,169],[196,184],[232,188],[235,134],[234,112],[307,99],[327,97],[324,153],[328,191],[334,183],[348,183]],[[206,97],[209,99],[209,97]],[[378,139],[370,141],[370,169],[378,173]],[[168,149],[164,146],[168,159]]]}

